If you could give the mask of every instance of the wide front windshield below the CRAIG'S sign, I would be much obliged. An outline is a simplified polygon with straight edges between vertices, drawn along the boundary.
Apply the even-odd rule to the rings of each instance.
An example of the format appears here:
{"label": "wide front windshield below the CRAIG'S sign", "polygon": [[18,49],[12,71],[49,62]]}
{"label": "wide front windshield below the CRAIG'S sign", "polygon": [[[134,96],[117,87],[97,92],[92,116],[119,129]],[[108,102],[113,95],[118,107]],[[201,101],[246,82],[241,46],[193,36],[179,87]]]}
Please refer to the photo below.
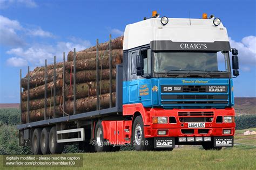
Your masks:
{"label": "wide front windshield below the CRAIG'S sign", "polygon": [[154,52],[154,72],[230,72],[228,52]]}

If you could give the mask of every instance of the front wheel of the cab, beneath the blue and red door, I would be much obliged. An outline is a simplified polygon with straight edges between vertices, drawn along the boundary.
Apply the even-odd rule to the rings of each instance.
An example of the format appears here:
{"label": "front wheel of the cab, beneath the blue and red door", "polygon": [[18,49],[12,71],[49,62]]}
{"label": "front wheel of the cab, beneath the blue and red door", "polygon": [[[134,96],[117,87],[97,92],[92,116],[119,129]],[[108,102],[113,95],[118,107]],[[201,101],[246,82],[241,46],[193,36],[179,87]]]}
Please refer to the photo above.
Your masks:
{"label": "front wheel of the cab, beneath the blue and red door", "polygon": [[153,150],[153,138],[144,137],[144,123],[142,116],[137,116],[132,125],[131,144],[136,151]]}

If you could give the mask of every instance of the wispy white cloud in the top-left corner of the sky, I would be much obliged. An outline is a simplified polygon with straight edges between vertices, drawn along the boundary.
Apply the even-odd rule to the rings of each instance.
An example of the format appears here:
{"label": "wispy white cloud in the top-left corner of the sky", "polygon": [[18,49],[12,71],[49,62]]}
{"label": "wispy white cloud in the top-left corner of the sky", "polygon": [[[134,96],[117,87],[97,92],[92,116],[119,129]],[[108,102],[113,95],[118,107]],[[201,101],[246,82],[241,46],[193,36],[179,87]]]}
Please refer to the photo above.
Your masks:
{"label": "wispy white cloud in the top-left corner of the sky", "polygon": [[33,0],[0,0],[0,9],[6,9],[10,6],[25,6],[27,8],[36,8],[38,5]]}

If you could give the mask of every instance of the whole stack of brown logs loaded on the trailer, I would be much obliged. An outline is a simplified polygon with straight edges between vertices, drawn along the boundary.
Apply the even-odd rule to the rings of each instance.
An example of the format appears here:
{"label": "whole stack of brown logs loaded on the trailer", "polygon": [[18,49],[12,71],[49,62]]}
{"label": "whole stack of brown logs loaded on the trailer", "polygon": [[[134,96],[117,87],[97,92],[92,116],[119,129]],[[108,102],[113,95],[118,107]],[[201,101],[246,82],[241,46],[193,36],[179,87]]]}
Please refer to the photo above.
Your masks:
{"label": "whole stack of brown logs loaded on the trailer", "polygon": [[[112,56],[112,94],[110,94],[110,55],[109,42],[98,44],[99,56],[99,83],[100,83],[100,109],[109,108],[110,95],[112,95],[113,106],[116,103],[116,65],[122,63],[123,59],[123,37],[111,41]],[[96,110],[97,106],[97,59],[96,46],[76,52],[76,114]],[[73,115],[73,52],[68,54],[68,61],[56,63],[56,107],[55,117]],[[46,101],[46,119],[53,118],[53,87],[54,87],[54,65],[36,67],[21,80],[22,92],[22,122],[28,122],[28,95],[29,95],[29,120],[30,122],[44,120],[44,103]],[[65,77],[63,77],[65,76]],[[65,79],[63,79],[65,78]],[[65,80],[65,82],[64,82]],[[101,80],[101,81],[100,81]],[[70,82],[71,81],[71,82]],[[63,86],[65,83],[65,86]],[[65,89],[64,89],[65,87]],[[45,100],[46,88],[46,100]],[[63,91],[64,90],[64,91]],[[64,92],[64,93],[63,93]],[[63,97],[65,94],[65,98]],[[63,104],[65,101],[65,104]],[[63,106],[65,105],[65,108]]]}

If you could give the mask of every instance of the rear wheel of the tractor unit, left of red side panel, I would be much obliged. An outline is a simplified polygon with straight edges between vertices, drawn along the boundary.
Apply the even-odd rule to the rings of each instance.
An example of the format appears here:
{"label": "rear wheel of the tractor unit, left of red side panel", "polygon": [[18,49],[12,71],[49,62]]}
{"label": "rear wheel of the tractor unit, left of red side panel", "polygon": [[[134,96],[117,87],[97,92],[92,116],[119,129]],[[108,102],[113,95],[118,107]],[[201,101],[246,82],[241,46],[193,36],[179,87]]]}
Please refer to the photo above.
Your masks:
{"label": "rear wheel of the tractor unit, left of red side panel", "polygon": [[95,127],[95,150],[96,152],[107,152],[111,150],[111,145],[107,144],[106,139],[103,138],[102,121],[98,121]]}

